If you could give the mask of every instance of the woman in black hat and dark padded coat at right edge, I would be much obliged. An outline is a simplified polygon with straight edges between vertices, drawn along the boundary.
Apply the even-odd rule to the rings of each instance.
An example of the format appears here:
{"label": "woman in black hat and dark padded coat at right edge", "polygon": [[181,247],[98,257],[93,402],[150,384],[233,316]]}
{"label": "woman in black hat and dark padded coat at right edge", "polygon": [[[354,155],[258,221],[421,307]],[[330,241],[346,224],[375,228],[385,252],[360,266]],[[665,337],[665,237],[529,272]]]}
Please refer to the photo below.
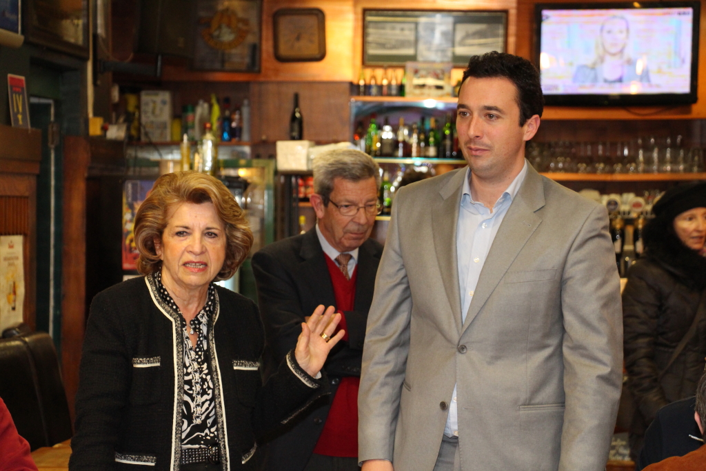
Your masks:
{"label": "woman in black hat and dark padded coat at right edge", "polygon": [[[657,410],[694,395],[706,357],[706,315],[696,318],[706,302],[706,183],[676,186],[652,210],[645,256],[630,268],[623,291],[625,366],[635,401],[633,459]],[[693,335],[669,364],[693,323]]]}

